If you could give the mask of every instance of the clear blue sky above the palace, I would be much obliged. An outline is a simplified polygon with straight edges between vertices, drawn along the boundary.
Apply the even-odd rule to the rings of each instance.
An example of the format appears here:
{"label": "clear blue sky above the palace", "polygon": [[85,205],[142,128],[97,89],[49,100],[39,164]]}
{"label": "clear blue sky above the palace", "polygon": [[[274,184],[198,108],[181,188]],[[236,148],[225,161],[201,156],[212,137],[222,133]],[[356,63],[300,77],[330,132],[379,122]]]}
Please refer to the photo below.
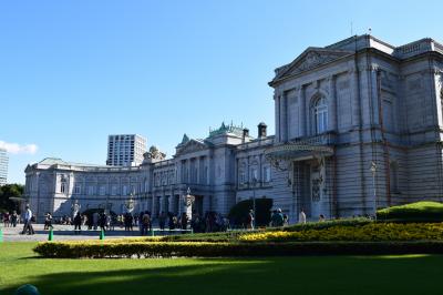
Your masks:
{"label": "clear blue sky above the palace", "polygon": [[[0,145],[9,182],[47,156],[104,164],[107,134],[168,156],[223,121],[274,134],[274,69],[372,34],[443,42],[441,1],[1,1]],[[11,145],[16,143],[17,145]]]}

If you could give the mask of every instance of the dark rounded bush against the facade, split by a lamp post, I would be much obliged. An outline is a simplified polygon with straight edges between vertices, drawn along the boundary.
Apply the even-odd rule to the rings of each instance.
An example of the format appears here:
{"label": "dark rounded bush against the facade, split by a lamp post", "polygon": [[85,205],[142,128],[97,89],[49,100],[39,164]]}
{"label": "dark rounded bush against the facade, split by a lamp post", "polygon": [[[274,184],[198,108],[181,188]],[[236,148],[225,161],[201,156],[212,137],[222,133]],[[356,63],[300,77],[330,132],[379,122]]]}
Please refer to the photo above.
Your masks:
{"label": "dark rounded bush against the facade, split by a lamp post", "polygon": [[[256,226],[267,226],[269,224],[272,202],[272,199],[256,199]],[[229,221],[231,225],[246,225],[249,210],[253,208],[253,200],[244,200],[235,204],[229,211]]]}

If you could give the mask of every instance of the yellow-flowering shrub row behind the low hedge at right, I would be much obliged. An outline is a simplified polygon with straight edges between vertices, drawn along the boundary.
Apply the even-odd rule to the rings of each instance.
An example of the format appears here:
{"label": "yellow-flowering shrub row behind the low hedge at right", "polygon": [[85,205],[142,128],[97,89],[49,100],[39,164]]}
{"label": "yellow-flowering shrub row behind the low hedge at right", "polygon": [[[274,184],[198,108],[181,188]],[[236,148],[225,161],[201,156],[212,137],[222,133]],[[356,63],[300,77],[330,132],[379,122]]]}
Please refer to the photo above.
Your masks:
{"label": "yellow-flowering shrub row behind the low hedge at right", "polygon": [[362,226],[333,226],[322,230],[308,228],[297,232],[246,233],[243,242],[288,241],[420,241],[443,240],[443,223],[369,223]]}

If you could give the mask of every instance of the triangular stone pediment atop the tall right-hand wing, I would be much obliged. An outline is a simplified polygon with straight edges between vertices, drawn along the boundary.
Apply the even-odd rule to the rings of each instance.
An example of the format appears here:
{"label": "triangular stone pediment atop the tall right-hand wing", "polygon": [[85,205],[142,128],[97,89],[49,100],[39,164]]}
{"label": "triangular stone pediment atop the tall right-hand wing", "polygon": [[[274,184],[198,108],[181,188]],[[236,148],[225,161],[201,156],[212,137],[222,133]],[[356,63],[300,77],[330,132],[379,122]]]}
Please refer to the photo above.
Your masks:
{"label": "triangular stone pediment atop the tall right-hand wing", "polygon": [[272,80],[272,82],[276,82],[277,80],[284,79],[286,77],[312,70],[315,68],[321,67],[352,53],[352,51],[344,50],[308,48],[291,63],[278,68],[276,70],[276,78]]}

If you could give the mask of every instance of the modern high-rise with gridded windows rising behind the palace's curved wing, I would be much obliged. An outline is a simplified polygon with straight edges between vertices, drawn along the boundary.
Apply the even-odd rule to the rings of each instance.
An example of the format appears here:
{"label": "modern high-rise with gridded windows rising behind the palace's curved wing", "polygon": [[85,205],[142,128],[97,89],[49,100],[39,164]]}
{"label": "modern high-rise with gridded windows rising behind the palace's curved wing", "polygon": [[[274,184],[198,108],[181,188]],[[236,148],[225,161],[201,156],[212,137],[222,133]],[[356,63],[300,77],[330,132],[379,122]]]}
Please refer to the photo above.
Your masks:
{"label": "modern high-rise with gridded windows rising behind the palace's curved wing", "polygon": [[135,166],[143,162],[146,139],[138,134],[119,134],[107,138],[109,166]]}

